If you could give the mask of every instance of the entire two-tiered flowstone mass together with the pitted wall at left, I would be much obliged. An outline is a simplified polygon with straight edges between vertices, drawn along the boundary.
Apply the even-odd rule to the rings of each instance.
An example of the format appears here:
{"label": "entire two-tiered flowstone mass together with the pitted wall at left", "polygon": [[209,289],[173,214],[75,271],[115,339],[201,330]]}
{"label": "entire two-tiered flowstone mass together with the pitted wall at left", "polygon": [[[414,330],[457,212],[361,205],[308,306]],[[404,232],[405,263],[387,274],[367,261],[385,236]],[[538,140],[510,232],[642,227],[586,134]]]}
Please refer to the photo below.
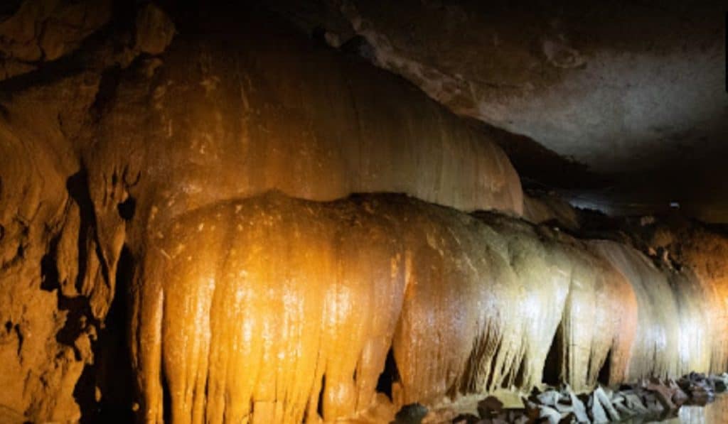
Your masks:
{"label": "entire two-tiered flowstone mass together with the pitted wall at left", "polygon": [[[80,13],[21,3],[5,23]],[[116,6],[0,81],[0,421],[381,422],[725,371],[721,233],[580,239],[360,57],[259,9]]]}

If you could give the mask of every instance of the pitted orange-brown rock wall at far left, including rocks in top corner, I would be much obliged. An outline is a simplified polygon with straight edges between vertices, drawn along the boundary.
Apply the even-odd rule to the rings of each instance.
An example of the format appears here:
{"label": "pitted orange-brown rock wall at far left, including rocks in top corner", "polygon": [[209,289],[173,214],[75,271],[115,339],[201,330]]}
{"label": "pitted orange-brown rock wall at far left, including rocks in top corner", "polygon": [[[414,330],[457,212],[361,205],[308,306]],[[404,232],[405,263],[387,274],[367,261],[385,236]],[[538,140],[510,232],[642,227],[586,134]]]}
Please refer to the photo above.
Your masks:
{"label": "pitted orange-brown rock wall at far left, including rocks in top corner", "polygon": [[[71,66],[54,60],[106,23],[110,7],[27,1],[0,23],[6,69],[21,59],[41,69],[0,78],[8,77],[0,81],[2,422],[79,420],[79,403],[89,412],[87,402],[101,393],[95,385],[109,385],[79,381],[98,364],[96,342],[114,297],[124,228],[98,233],[79,146],[98,116],[100,71],[128,65],[141,49],[128,44],[115,52],[111,44],[119,40],[108,40]],[[39,49],[39,57],[23,56]]]}

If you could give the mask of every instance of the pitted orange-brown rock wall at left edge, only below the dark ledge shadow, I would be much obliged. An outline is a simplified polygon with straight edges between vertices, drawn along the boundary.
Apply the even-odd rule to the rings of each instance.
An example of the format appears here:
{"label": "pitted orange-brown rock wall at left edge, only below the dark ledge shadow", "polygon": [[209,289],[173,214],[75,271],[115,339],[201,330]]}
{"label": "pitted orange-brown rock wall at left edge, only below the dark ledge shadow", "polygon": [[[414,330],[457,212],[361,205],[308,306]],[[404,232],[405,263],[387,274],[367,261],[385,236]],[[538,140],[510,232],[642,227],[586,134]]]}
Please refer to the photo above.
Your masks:
{"label": "pitted orange-brown rock wall at left edge, only below the dark ledge shadow", "polygon": [[12,411],[10,422],[80,417],[72,393],[92,361],[95,327],[87,324],[103,316],[71,310],[73,299],[91,296],[100,281],[79,271],[99,262],[68,185],[79,167],[69,138],[97,84],[82,74],[30,89],[1,108],[0,404]]}

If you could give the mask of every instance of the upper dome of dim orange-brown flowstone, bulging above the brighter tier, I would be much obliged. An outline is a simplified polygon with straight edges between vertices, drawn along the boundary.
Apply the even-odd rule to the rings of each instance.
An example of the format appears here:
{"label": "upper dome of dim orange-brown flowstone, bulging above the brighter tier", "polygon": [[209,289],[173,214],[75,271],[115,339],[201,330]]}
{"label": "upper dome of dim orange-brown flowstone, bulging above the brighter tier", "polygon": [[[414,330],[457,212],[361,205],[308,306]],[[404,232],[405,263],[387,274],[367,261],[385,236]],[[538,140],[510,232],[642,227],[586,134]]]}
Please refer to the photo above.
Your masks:
{"label": "upper dome of dim orange-brown flowstone, bulging above the brighter tier", "polygon": [[273,19],[180,34],[161,64],[119,81],[86,151],[92,194],[110,191],[116,170],[138,176],[132,192],[158,217],[269,190],[407,193],[521,215],[518,175],[488,135]]}

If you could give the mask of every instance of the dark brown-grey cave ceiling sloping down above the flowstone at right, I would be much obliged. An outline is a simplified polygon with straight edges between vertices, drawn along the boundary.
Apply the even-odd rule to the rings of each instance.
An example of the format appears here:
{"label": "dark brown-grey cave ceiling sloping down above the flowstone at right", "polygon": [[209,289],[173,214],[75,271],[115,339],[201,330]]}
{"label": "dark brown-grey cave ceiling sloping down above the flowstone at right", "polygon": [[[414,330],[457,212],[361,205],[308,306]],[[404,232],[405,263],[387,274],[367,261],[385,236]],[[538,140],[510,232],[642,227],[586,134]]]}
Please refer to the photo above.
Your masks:
{"label": "dark brown-grey cave ceiling sloping down above the flowstone at right", "polygon": [[[644,213],[681,201],[707,219],[725,209],[719,1],[274,3],[332,46],[363,37],[358,48],[373,63],[452,111],[605,177],[609,183],[577,193],[590,199],[586,206]],[[554,169],[519,168],[553,183]],[[583,177],[556,185],[569,179]]]}

